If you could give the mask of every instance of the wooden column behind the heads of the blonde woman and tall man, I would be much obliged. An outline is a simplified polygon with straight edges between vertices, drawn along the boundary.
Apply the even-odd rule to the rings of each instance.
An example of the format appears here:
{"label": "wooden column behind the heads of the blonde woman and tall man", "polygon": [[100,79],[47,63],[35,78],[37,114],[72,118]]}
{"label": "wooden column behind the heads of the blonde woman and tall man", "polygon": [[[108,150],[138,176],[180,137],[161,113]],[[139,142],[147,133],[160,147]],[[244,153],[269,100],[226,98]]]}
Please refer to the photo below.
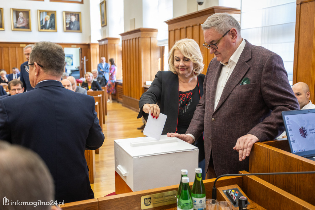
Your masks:
{"label": "wooden column behind the heads of the blonde woman and tall man", "polygon": [[202,73],[205,74],[207,72],[208,64],[211,59],[214,58],[214,55],[210,54],[209,50],[202,46],[204,38],[201,24],[203,24],[209,16],[215,13],[223,12],[231,14],[236,20],[240,21],[240,9],[219,6],[199,10],[197,12],[165,21],[169,25],[169,49],[172,48],[176,40],[180,40],[182,38],[194,39],[199,44],[200,50],[203,54],[204,68]]}

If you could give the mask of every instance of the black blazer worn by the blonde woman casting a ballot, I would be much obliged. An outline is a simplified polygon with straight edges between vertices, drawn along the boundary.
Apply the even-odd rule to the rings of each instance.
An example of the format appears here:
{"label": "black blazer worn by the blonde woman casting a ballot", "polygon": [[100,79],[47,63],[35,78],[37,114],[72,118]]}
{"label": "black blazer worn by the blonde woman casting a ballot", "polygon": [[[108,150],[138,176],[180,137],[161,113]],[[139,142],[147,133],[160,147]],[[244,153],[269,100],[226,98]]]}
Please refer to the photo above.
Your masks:
{"label": "black blazer worn by the blonde woman casting a ballot", "polygon": [[[198,75],[200,96],[203,95],[203,80],[205,75]],[[156,103],[162,114],[167,115],[162,135],[168,132],[176,132],[178,119],[178,76],[171,71],[158,71],[149,89],[142,94],[139,101],[140,112],[137,118],[144,117],[148,120],[148,114],[142,111],[146,103]],[[199,137],[199,136],[198,136]],[[199,161],[204,159],[203,138],[196,138],[194,145],[199,148]]]}

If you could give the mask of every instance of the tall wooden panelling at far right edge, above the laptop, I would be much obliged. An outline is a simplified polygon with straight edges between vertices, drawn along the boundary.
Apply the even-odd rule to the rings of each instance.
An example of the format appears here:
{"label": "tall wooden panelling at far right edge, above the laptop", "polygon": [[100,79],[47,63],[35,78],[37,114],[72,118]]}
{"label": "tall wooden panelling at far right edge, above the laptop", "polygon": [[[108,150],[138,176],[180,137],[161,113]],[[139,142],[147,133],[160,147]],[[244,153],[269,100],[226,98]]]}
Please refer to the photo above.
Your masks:
{"label": "tall wooden panelling at far right edge, above the laptop", "polygon": [[315,101],[315,0],[296,1],[293,84],[305,82]]}

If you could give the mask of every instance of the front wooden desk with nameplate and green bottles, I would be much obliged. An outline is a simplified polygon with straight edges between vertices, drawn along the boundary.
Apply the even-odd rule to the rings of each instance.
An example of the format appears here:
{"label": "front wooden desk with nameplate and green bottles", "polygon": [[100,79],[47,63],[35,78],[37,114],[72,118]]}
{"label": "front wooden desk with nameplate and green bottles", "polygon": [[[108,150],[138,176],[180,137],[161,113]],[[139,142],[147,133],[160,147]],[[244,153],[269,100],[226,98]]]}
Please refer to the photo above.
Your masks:
{"label": "front wooden desk with nameplate and green bottles", "polygon": [[[242,171],[241,173],[248,173]],[[174,174],[173,174],[174,175]],[[178,174],[180,179],[180,174]],[[215,179],[204,180],[204,186],[206,190],[206,198],[211,198],[212,187]],[[192,187],[193,182],[189,185]],[[295,197],[294,195],[281,190],[274,185],[258,178],[256,176],[233,176],[233,177],[223,177],[216,182],[217,188],[217,199],[220,201],[224,199],[221,193],[221,187],[228,185],[237,184],[241,190],[248,196],[250,201],[255,202],[255,209],[315,209],[315,206]],[[157,193],[169,192],[177,190],[177,185],[172,185],[168,187],[155,188],[151,190],[142,190],[137,192],[123,193],[119,195],[105,196],[102,198],[97,198],[97,204],[94,199],[86,201],[78,201],[67,203],[62,206],[63,210],[69,209],[95,209],[98,205],[99,210],[111,210],[111,209],[128,209],[128,210],[139,210],[141,209],[141,197],[145,195],[153,195]],[[117,189],[116,189],[117,190]],[[82,203],[82,204],[81,204]],[[91,208],[86,208],[90,205]],[[75,207],[75,208],[74,208]],[[150,210],[176,210],[176,201],[173,204],[152,207]],[[234,210],[238,210],[234,208]]]}

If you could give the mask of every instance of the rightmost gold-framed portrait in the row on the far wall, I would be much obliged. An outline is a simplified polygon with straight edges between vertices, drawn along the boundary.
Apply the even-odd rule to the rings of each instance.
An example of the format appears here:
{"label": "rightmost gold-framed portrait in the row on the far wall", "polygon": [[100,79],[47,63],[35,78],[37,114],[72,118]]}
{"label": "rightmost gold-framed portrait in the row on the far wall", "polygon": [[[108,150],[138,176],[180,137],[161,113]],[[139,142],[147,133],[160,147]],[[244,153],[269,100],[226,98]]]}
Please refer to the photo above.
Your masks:
{"label": "rightmost gold-framed portrait in the row on the far wall", "polygon": [[81,12],[63,11],[63,30],[65,32],[82,32]]}

